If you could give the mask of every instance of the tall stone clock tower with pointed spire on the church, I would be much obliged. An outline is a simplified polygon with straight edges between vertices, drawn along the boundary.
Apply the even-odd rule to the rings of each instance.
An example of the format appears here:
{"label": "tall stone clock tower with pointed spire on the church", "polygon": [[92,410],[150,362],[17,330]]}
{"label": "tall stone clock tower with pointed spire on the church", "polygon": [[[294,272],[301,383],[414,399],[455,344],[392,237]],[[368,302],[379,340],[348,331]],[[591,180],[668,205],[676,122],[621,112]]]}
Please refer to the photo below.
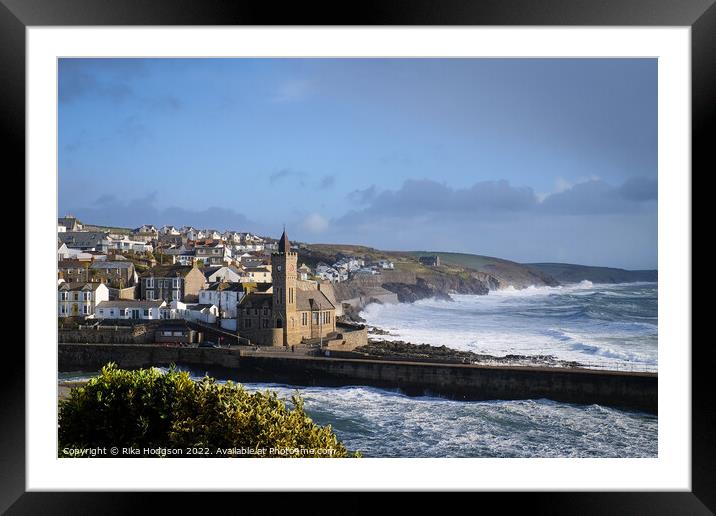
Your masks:
{"label": "tall stone clock tower with pointed spire on the church", "polygon": [[298,253],[291,252],[291,243],[284,229],[278,241],[278,252],[271,255],[273,278],[273,328],[283,329],[284,346],[300,344],[301,329],[296,311],[296,265]]}

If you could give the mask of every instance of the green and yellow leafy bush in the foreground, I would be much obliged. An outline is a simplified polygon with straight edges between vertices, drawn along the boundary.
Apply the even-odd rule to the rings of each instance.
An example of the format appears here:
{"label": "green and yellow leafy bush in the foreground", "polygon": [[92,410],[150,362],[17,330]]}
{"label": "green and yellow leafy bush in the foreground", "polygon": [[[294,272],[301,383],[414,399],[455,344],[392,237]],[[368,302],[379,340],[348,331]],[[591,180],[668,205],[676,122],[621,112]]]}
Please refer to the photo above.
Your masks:
{"label": "green and yellow leafy bush in the foreground", "polygon": [[110,363],[60,401],[60,456],[67,456],[67,448],[114,446],[202,448],[210,454],[238,448],[243,451],[230,456],[253,457],[350,455],[330,425],[311,420],[298,395],[292,404],[288,408],[275,392],[250,393],[232,382],[194,382],[174,367],[166,373],[128,371]]}

